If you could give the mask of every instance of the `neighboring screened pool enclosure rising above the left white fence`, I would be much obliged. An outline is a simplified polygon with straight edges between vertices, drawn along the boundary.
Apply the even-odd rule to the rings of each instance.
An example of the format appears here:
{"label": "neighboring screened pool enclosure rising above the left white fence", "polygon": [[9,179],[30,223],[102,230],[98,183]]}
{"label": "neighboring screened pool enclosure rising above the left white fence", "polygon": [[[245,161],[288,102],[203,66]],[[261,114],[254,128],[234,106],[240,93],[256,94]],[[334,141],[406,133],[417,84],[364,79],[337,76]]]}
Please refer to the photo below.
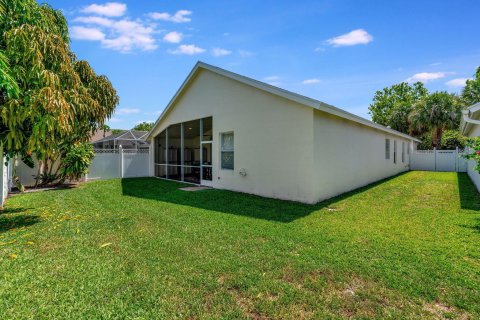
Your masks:
{"label": "neighboring screened pool enclosure rising above the left white fence", "polygon": [[111,134],[108,137],[92,142],[95,149],[148,149],[150,144],[145,141],[148,131],[125,130]]}

